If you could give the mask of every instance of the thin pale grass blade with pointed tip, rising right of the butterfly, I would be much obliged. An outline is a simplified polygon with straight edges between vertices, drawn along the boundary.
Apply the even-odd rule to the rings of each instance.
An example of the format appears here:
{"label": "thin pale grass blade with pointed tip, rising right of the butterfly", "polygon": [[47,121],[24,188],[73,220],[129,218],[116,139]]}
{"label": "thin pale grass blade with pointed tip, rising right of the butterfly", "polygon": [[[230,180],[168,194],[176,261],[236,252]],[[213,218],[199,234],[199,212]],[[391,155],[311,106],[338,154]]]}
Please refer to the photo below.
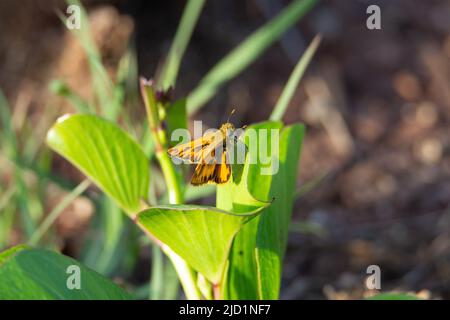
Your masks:
{"label": "thin pale grass blade with pointed tip, rising right of the butterfly", "polygon": [[294,95],[295,90],[298,87],[298,83],[303,77],[306,68],[308,67],[312,57],[314,56],[314,53],[316,52],[320,44],[320,40],[321,37],[316,36],[298,61],[297,65],[294,68],[294,71],[292,71],[292,74],[289,77],[288,82],[284,86],[283,92],[281,93],[281,96],[278,99],[278,102],[275,105],[272,114],[270,115],[270,120],[278,121],[283,118],[289,102],[291,101],[292,96]]}

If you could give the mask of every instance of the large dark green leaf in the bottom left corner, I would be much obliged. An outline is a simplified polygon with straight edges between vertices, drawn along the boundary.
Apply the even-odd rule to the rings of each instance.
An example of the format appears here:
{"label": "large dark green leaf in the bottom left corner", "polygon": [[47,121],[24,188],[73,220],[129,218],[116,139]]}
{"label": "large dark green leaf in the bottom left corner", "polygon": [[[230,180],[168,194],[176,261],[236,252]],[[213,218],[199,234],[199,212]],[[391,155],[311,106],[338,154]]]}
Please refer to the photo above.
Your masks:
{"label": "large dark green leaf in the bottom left corner", "polygon": [[[77,272],[69,266],[79,267],[80,289],[67,285]],[[119,286],[78,261],[26,246],[0,253],[0,279],[0,299],[131,299]]]}

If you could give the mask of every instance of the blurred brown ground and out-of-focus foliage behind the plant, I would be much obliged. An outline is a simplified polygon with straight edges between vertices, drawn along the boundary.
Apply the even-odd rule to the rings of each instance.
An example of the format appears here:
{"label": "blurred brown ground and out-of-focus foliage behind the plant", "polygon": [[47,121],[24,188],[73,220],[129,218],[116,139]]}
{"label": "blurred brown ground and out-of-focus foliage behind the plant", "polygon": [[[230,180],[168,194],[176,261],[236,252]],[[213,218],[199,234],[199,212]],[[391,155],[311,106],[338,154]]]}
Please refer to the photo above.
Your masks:
{"label": "blurred brown ground and out-of-focus foliage behind the plant", "polygon": [[[115,75],[128,57],[123,107],[134,123],[144,115],[137,76],[157,72],[185,1],[82,3],[107,71]],[[207,2],[174,96],[189,93],[289,3]],[[381,8],[381,30],[366,28],[371,4]],[[84,177],[44,143],[55,119],[76,111],[54,79],[76,92],[69,98],[92,95],[86,55],[57,14],[66,7],[57,0],[0,1],[2,112],[10,113],[1,127],[0,249],[34,236],[145,298],[156,272],[150,261],[161,257],[125,217],[110,214],[117,209],[98,189],[89,187],[57,210]],[[361,298],[372,264],[381,268],[383,291],[450,298],[449,17],[445,0],[319,1],[191,117],[217,127],[236,108],[236,125],[267,119],[298,58],[322,34],[284,117],[288,124],[305,123],[307,135],[282,299]],[[50,212],[57,212],[54,223],[36,236]]]}

